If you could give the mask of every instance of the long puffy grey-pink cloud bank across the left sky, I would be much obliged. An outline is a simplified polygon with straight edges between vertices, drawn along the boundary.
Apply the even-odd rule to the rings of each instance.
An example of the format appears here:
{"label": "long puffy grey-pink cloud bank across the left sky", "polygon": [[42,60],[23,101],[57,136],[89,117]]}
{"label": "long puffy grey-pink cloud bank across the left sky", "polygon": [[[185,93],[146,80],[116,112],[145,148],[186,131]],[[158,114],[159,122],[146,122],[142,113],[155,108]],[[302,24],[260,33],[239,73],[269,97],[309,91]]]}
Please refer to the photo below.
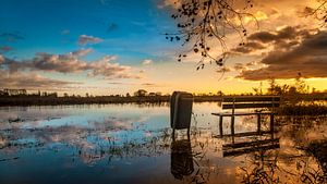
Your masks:
{"label": "long puffy grey-pink cloud bank across the left sky", "polygon": [[24,61],[15,61],[2,57],[1,65],[7,66],[11,73],[26,70],[59,73],[87,72],[87,76],[90,77],[141,78],[138,75],[133,74],[131,66],[113,62],[117,59],[116,56],[107,56],[92,62],[81,60],[82,57],[92,51],[92,49],[81,49],[65,54],[37,53],[35,58]]}

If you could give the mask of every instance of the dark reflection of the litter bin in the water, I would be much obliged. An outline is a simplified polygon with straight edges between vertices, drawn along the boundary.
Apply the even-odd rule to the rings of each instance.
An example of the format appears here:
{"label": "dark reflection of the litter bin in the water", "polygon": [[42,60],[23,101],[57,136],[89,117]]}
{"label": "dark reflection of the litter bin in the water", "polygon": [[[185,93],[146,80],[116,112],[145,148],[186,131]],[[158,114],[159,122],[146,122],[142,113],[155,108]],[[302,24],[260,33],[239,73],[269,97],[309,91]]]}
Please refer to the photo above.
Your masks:
{"label": "dark reflection of the litter bin in the water", "polygon": [[170,172],[174,179],[182,180],[194,171],[190,139],[173,140],[171,143]]}

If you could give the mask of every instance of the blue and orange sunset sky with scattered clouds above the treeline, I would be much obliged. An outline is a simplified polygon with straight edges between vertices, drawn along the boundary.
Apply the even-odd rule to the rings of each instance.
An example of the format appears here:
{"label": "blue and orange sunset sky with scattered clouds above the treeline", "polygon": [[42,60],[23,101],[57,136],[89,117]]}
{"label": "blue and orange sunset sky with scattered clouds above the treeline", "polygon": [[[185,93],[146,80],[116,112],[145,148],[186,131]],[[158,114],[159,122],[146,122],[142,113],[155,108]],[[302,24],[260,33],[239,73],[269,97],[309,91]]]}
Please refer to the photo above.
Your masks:
{"label": "blue and orange sunset sky with scattered clouds above the treeline", "polygon": [[228,34],[225,68],[199,71],[197,56],[178,62],[186,47],[166,40],[165,33],[177,32],[172,2],[0,0],[0,88],[240,94],[267,86],[269,78],[292,84],[301,73],[311,87],[327,89],[326,26],[305,15],[315,0],[254,0],[251,13],[259,26],[246,21],[246,47]]}

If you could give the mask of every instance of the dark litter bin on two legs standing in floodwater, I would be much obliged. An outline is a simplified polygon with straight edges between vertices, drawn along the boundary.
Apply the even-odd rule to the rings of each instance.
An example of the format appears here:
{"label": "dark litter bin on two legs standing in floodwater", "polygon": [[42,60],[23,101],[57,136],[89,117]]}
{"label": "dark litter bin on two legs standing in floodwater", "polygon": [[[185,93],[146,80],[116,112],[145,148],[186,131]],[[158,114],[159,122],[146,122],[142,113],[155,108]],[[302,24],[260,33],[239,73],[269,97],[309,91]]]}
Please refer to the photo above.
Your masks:
{"label": "dark litter bin on two legs standing in floodwater", "polygon": [[174,91],[170,98],[170,126],[172,136],[175,130],[187,128],[190,134],[193,95],[183,91]]}

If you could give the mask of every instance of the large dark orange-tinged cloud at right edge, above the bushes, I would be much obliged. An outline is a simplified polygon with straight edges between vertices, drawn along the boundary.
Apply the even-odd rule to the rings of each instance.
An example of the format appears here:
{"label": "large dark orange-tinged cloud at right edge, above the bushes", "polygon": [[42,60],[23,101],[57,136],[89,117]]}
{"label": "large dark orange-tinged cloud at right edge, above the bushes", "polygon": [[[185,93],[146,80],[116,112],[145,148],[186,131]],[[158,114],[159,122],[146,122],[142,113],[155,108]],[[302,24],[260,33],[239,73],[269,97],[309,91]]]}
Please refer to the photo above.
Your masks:
{"label": "large dark orange-tinged cloud at right edge, above the bushes", "polygon": [[[284,36],[284,38],[288,36]],[[294,37],[294,36],[293,36]],[[306,36],[289,50],[277,47],[261,60],[264,68],[243,70],[239,77],[261,81],[267,78],[327,77],[327,32]]]}

